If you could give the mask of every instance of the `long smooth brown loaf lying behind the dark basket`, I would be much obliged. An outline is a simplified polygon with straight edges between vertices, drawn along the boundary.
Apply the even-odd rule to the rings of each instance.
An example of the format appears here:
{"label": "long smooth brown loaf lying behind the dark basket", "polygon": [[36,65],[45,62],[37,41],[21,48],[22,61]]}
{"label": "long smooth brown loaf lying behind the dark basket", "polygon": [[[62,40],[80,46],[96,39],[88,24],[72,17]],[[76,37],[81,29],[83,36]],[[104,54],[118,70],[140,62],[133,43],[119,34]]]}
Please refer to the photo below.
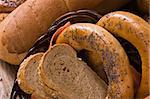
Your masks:
{"label": "long smooth brown loaf lying behind the dark basket", "polygon": [[77,9],[104,10],[108,6],[99,9],[102,1],[105,0],[27,0],[0,24],[0,59],[20,64],[35,40],[57,17]]}

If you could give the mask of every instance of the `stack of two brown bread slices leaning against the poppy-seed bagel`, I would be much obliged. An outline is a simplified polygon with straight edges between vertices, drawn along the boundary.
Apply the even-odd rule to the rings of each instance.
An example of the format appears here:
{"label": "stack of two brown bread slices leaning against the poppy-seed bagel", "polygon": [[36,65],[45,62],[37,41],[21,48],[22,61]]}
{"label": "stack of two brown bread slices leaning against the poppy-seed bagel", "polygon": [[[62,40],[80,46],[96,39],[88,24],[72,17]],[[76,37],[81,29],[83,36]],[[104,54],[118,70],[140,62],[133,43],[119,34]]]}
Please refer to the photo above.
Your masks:
{"label": "stack of two brown bread slices leaning against the poppy-seed bagel", "polygon": [[67,44],[29,56],[20,65],[21,89],[38,99],[104,99],[107,85]]}

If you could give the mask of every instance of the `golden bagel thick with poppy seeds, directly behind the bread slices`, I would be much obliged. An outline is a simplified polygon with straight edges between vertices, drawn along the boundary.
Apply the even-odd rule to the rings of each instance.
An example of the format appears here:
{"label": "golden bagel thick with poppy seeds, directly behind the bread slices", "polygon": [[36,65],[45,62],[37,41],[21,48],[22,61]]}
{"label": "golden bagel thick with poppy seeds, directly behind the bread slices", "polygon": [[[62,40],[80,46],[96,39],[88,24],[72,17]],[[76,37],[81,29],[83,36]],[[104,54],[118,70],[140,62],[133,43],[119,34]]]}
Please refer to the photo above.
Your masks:
{"label": "golden bagel thick with poppy seeds, directly behind the bread slices", "polygon": [[60,33],[56,44],[61,43],[67,43],[77,51],[87,51],[88,61],[98,74],[104,66],[109,80],[106,99],[133,98],[129,60],[122,46],[109,32],[94,24],[77,23]]}

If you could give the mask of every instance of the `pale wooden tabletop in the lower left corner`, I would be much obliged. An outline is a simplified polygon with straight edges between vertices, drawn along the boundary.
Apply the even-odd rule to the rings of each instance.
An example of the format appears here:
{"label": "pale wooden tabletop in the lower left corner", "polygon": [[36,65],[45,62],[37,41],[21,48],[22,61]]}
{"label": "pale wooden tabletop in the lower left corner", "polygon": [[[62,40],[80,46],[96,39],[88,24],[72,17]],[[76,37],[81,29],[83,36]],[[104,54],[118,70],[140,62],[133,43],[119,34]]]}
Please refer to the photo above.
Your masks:
{"label": "pale wooden tabletop in the lower left corner", "polygon": [[0,60],[0,99],[10,99],[16,72],[17,66],[9,65]]}

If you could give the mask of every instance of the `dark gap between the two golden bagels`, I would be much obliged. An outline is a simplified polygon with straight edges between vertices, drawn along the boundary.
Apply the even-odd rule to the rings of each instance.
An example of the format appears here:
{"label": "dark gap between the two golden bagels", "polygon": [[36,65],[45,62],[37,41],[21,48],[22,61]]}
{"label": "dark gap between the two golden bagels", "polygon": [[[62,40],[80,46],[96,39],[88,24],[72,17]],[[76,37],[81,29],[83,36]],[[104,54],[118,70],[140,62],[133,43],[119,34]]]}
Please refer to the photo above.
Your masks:
{"label": "dark gap between the two golden bagels", "polygon": [[126,54],[128,55],[130,64],[139,73],[142,73],[142,61],[141,61],[140,54],[139,54],[138,50],[136,49],[136,47],[123,38],[120,38],[120,37],[116,37],[116,38],[120,42],[122,47],[124,48]]}

